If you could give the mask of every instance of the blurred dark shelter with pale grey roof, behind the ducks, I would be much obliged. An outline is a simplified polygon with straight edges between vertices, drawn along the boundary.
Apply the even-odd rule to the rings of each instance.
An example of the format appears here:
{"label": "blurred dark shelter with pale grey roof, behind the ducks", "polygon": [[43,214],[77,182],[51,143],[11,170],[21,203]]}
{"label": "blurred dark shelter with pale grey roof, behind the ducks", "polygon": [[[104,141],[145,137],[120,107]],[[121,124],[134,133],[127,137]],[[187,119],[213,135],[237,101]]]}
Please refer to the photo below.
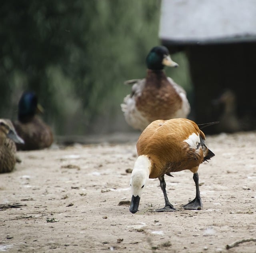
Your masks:
{"label": "blurred dark shelter with pale grey roof, behind the ducks", "polygon": [[220,122],[205,133],[255,130],[255,1],[162,0],[160,20],[161,44],[186,52],[193,120]]}

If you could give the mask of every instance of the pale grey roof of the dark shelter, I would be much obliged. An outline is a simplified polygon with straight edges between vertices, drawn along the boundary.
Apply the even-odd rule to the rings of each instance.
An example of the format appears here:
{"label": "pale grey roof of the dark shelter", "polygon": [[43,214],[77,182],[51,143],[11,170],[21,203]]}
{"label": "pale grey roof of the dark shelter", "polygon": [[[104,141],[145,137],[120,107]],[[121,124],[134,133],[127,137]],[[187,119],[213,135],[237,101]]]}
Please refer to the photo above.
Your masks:
{"label": "pale grey roof of the dark shelter", "polygon": [[256,41],[256,1],[162,0],[159,37],[168,44]]}

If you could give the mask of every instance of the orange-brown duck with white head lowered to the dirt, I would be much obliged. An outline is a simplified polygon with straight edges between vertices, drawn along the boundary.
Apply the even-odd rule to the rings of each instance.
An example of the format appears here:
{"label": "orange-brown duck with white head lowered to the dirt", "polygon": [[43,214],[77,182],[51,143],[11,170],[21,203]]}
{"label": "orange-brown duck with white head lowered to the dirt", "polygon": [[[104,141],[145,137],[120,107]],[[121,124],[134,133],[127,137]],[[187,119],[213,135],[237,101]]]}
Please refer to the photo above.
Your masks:
{"label": "orange-brown duck with white head lowered to the dirt", "polygon": [[138,158],[130,179],[130,212],[138,211],[140,196],[148,178],[158,178],[164,193],[165,207],[156,211],[175,211],[167,197],[164,175],[172,176],[170,173],[185,169],[194,173],[196,197],[184,205],[184,208],[201,209],[198,166],[214,156],[204,142],[204,133],[195,122],[188,119],[156,120],[148,125],[141,133],[136,146]]}

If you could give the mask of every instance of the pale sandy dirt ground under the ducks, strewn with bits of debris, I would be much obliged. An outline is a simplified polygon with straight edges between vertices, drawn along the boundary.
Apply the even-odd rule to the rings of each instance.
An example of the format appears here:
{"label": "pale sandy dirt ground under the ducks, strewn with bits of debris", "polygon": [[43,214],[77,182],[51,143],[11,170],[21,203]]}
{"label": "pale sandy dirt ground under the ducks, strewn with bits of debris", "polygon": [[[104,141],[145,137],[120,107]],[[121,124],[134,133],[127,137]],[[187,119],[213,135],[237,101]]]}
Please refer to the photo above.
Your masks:
{"label": "pale sandy dirt ground under the ducks, strewn with bits of debris", "polygon": [[[166,176],[176,212],[150,179],[138,213],[129,212],[136,141],[18,152],[22,163],[0,174],[0,251],[256,253],[256,132],[207,136],[215,153],[199,167],[203,209],[190,171]],[[22,206],[19,206],[18,203]],[[16,206],[16,208],[14,208]],[[5,207],[5,208],[4,208]]]}

